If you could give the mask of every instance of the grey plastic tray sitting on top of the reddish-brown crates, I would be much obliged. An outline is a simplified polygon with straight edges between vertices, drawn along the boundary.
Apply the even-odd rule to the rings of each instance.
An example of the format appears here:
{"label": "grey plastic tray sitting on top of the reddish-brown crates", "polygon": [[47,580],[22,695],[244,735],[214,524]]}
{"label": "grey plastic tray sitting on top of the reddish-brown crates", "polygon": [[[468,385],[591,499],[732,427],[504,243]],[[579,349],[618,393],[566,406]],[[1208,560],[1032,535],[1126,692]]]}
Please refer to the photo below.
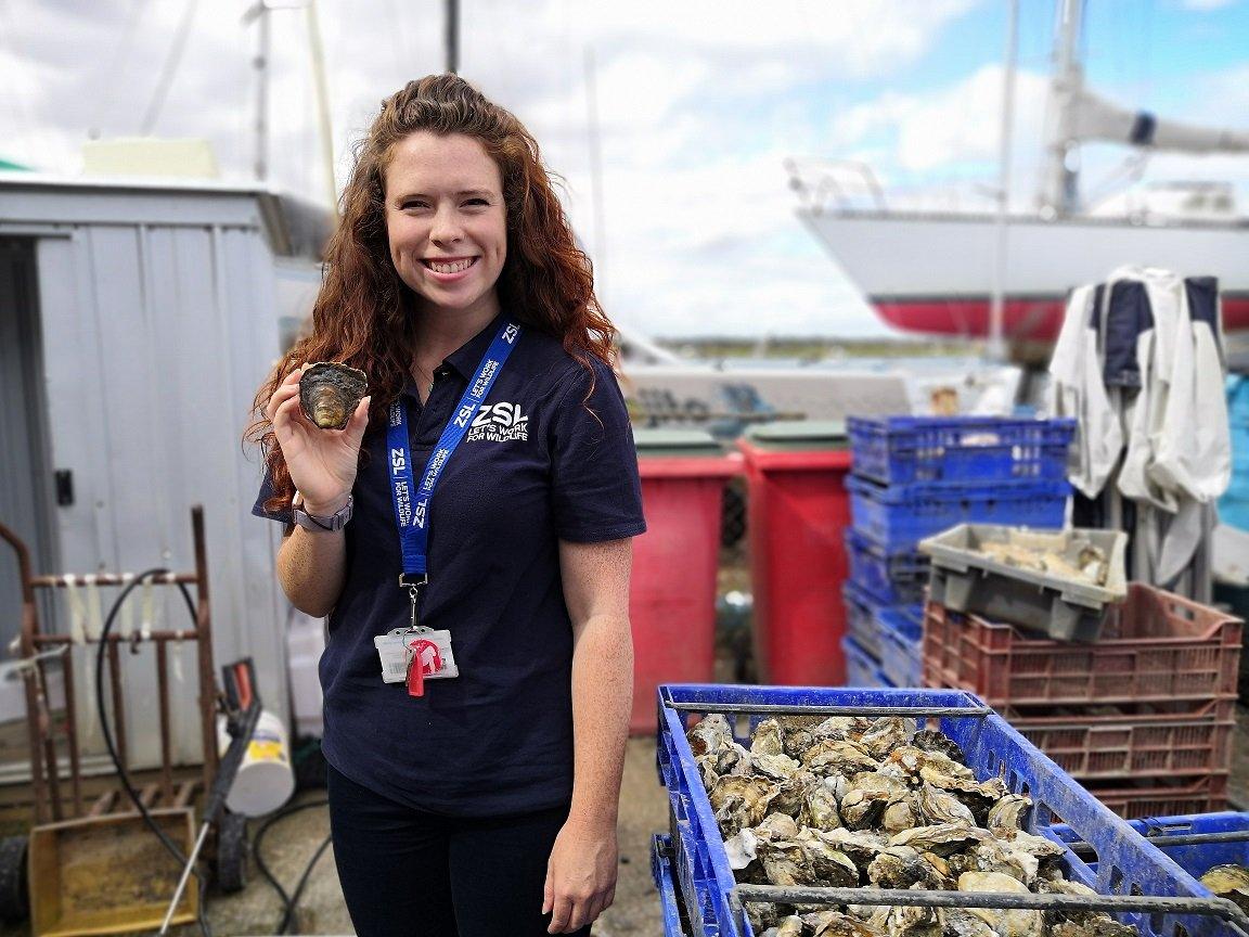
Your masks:
{"label": "grey plastic tray sitting on top of the reddish-brown crates", "polygon": [[[1107,606],[1128,595],[1124,551],[1128,536],[1104,530],[1028,530],[992,523],[962,523],[919,541],[932,557],[928,595],[957,612],[982,615],[1058,641],[1097,641]],[[1057,555],[1079,567],[1079,553],[1098,547],[1108,560],[1104,585],[1015,566],[983,552],[988,543],[1008,543]]]}

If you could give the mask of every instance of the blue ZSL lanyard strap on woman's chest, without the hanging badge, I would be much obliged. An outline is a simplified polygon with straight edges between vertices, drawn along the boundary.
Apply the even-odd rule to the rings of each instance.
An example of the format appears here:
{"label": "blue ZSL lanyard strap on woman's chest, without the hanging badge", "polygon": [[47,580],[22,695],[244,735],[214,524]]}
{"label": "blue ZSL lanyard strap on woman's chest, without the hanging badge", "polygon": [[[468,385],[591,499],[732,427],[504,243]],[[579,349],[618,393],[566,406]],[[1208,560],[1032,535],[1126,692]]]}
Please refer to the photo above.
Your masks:
{"label": "blue ZSL lanyard strap on woman's chest, without the hanging badge", "polygon": [[[442,429],[438,445],[433,447],[430,461],[425,465],[420,488],[412,477],[412,459],[408,451],[407,414],[402,397],[395,400],[390,409],[390,427],[386,430],[386,446],[390,450],[391,495],[395,498],[395,522],[398,526],[400,550],[403,553],[403,572],[398,577],[400,586],[416,587],[426,581],[428,570],[430,545],[430,498],[437,487],[442,470],[451,461],[451,455],[468,432],[477,407],[490,394],[498,372],[503,370],[507,356],[512,354],[521,327],[513,322],[503,322],[498,335],[491,342],[486,356],[477,366],[477,374],[468,382],[468,390],[460,397],[455,417]],[[415,500],[413,500],[415,498]],[[413,593],[415,595],[415,593]],[[415,600],[413,600],[415,601]],[[413,606],[415,607],[415,606]]]}

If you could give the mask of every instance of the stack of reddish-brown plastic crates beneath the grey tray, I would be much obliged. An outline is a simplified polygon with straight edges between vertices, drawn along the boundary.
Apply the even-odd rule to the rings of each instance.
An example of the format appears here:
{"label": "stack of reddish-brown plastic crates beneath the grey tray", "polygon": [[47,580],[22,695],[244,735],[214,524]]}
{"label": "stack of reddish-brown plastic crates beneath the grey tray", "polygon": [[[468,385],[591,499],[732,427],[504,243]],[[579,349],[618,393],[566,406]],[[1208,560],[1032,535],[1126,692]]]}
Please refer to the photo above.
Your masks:
{"label": "stack of reddish-brown plastic crates beneath the grey tray", "polygon": [[1124,817],[1204,813],[1227,805],[1242,627],[1140,582],[1092,643],[929,602],[924,680],[980,696]]}

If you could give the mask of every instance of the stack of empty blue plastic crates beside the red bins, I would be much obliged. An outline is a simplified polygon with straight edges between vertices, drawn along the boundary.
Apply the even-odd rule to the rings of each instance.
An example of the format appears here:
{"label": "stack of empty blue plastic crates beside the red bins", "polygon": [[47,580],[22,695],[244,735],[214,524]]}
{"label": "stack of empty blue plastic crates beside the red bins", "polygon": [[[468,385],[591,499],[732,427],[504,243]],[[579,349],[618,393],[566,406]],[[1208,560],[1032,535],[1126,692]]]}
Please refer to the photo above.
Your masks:
{"label": "stack of empty blue plastic crates beside the red bins", "polygon": [[921,540],[958,523],[1062,527],[1073,420],[851,417],[848,686],[921,686]]}

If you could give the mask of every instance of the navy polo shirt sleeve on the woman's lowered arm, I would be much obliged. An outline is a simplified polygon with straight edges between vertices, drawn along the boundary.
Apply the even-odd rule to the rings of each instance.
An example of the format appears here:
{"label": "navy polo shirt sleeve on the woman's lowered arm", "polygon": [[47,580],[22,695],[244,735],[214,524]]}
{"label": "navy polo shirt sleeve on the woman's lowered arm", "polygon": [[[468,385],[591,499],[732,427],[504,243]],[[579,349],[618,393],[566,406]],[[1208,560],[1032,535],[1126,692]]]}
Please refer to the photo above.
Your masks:
{"label": "navy polo shirt sleeve on the woman's lowered arm", "polygon": [[552,511],[561,540],[593,543],[646,531],[633,430],[616,375],[577,365],[550,422]]}

